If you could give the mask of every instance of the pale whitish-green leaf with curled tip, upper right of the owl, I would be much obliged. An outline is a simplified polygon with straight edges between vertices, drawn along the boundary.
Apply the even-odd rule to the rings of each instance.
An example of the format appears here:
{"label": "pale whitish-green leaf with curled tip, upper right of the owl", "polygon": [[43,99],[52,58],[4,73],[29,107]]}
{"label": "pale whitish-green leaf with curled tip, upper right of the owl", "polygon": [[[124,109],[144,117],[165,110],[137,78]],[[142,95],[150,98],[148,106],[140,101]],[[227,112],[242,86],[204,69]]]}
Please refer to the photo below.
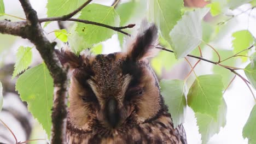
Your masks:
{"label": "pale whitish-green leaf with curled tip, upper right of the owl", "polygon": [[189,11],[182,16],[170,32],[172,48],[176,58],[184,58],[189,52],[193,51],[202,41],[203,17],[208,13],[209,8],[196,9]]}

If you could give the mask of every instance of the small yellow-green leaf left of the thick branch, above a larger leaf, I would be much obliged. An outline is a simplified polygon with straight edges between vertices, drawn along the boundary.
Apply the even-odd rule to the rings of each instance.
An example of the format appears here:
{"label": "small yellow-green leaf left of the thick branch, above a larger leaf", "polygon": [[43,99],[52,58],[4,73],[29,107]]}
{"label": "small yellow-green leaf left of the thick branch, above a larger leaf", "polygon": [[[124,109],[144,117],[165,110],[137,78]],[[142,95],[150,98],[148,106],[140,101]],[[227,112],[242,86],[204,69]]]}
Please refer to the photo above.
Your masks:
{"label": "small yellow-green leaf left of the thick branch, above a larger leaf", "polygon": [[12,79],[26,70],[32,62],[32,48],[20,46],[16,53],[16,63],[14,65],[14,71]]}

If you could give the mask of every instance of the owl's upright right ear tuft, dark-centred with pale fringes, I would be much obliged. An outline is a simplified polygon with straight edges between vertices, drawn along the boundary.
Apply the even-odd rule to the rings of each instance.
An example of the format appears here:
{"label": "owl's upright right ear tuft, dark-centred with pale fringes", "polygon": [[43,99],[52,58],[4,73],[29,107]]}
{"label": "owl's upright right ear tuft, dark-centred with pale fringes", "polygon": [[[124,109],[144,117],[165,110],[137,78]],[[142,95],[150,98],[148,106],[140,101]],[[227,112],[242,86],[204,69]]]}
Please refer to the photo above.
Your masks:
{"label": "owl's upright right ear tuft, dark-centred with pale fringes", "polygon": [[139,33],[129,46],[127,55],[133,61],[153,57],[158,53],[158,28],[154,24],[142,21]]}

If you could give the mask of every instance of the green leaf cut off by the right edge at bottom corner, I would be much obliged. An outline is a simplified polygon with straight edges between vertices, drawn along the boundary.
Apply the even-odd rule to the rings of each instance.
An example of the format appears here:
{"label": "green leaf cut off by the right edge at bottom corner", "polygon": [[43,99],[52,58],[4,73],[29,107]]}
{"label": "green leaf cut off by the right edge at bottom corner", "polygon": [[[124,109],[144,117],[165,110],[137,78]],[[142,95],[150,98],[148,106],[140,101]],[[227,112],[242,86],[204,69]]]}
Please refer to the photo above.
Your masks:
{"label": "green leaf cut off by the right edge at bottom corner", "polygon": [[243,127],[243,138],[246,137],[248,139],[248,143],[256,143],[256,105],[253,106],[245,127]]}

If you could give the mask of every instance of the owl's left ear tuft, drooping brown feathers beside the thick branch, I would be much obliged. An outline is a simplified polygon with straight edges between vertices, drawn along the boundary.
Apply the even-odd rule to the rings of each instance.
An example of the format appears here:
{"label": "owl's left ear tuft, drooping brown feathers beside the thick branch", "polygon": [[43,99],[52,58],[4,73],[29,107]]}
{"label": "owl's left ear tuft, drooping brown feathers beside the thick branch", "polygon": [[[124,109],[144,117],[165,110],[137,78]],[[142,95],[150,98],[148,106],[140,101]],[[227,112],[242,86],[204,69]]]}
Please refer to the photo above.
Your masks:
{"label": "owl's left ear tuft, drooping brown feathers beside the thick branch", "polygon": [[69,50],[55,50],[57,57],[59,58],[62,65],[67,66],[72,69],[82,67],[83,65],[83,58],[82,56],[77,56],[75,53]]}

